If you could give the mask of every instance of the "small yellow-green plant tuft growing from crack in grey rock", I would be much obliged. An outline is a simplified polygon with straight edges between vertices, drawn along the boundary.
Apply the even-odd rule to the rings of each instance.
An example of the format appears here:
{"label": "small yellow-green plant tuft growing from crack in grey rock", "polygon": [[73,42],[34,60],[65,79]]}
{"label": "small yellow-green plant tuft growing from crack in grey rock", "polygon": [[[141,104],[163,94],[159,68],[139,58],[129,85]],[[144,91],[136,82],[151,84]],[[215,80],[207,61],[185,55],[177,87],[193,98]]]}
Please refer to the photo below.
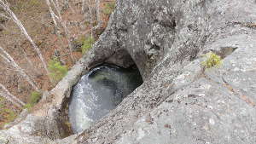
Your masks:
{"label": "small yellow-green plant tuft growing from crack in grey rock", "polygon": [[206,68],[211,68],[213,66],[219,66],[222,63],[221,57],[209,52],[206,54],[207,60],[202,62],[202,65],[205,66]]}

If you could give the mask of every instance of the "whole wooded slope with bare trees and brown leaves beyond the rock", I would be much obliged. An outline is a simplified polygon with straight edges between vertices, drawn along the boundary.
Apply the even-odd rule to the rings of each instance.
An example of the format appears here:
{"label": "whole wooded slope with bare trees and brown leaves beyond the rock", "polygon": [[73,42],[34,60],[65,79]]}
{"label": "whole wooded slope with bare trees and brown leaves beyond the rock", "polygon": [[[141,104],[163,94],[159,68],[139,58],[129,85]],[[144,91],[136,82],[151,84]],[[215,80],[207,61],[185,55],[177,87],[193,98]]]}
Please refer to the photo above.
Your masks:
{"label": "whole wooded slope with bare trees and brown leaves beyond the rock", "polygon": [[37,108],[108,24],[113,0],[0,0],[0,129]]}

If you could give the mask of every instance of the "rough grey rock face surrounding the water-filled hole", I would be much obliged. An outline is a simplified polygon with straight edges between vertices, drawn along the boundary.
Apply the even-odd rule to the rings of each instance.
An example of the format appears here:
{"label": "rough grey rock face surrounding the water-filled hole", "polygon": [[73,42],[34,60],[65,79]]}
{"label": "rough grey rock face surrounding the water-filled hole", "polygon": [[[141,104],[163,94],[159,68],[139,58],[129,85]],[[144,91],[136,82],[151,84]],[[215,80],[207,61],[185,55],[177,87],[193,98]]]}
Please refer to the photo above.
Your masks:
{"label": "rough grey rock face surrounding the water-filled hole", "polygon": [[[51,91],[52,101],[1,131],[0,141],[256,143],[255,23],[254,0],[117,0],[107,30]],[[209,51],[222,66],[201,65]],[[62,139],[72,86],[104,61],[131,62],[119,53],[131,55],[143,85],[89,130]]]}

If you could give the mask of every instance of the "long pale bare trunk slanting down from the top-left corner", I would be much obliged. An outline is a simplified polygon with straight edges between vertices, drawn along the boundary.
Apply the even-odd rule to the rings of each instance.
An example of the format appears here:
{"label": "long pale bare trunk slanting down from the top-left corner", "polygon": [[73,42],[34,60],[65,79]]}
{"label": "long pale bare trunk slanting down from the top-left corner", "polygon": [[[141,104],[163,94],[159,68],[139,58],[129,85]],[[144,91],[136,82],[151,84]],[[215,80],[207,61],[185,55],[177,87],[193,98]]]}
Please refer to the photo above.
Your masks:
{"label": "long pale bare trunk slanting down from the top-left corner", "polygon": [[[36,50],[40,60],[43,63],[44,69],[47,72],[47,74],[49,75],[49,71],[47,69],[47,65],[45,63],[44,57],[40,51],[40,49],[38,49],[38,46],[36,45],[36,43],[33,42],[32,37],[29,36],[29,34],[26,32],[26,28],[23,26],[23,24],[21,23],[21,21],[17,18],[17,16],[15,15],[15,13],[9,8],[9,3],[6,0],[0,0],[0,8],[3,9],[3,11],[7,14],[5,15],[6,17],[11,18],[15,24],[20,28],[20,32],[22,32],[26,39],[32,43],[32,47],[33,49]],[[3,15],[3,14],[2,14]]]}

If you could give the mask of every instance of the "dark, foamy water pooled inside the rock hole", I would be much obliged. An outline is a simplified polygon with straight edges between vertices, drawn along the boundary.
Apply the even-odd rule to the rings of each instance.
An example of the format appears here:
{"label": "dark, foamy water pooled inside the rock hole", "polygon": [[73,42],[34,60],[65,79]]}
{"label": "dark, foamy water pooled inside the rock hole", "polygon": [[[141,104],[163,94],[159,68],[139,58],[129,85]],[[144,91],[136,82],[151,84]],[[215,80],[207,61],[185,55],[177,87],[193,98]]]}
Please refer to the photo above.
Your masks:
{"label": "dark, foamy water pooled inside the rock hole", "polygon": [[136,66],[125,69],[104,65],[85,74],[73,87],[69,104],[68,113],[73,132],[88,129],[142,83],[143,79]]}

